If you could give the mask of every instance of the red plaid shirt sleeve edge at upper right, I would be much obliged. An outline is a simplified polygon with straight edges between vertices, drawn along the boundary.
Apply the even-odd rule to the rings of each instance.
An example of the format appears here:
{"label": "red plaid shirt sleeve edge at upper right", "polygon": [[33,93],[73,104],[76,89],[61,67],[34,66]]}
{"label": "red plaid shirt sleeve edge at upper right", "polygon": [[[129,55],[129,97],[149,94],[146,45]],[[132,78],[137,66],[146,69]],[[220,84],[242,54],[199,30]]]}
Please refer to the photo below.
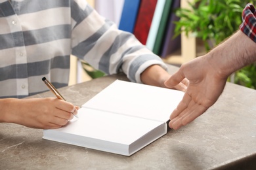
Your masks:
{"label": "red plaid shirt sleeve edge at upper right", "polygon": [[256,11],[255,7],[248,3],[242,13],[243,22],[240,30],[245,33],[252,41],[256,42]]}

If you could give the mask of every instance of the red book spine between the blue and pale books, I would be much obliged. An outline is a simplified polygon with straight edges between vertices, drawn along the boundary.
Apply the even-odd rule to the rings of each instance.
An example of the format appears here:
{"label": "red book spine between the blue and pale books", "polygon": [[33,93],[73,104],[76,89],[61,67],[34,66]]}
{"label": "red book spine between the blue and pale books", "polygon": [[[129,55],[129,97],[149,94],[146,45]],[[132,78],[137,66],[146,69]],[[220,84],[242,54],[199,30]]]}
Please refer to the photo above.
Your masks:
{"label": "red book spine between the blue and pale books", "polygon": [[148,38],[157,2],[158,0],[141,0],[140,2],[140,8],[133,34],[144,45]]}

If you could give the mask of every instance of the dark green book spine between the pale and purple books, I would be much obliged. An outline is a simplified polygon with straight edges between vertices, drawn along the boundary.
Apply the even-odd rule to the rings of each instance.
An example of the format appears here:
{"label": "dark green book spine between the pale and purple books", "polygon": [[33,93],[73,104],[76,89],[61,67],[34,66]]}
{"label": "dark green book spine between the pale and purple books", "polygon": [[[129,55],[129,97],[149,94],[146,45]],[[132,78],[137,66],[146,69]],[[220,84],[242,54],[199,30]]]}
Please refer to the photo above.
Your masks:
{"label": "dark green book spine between the pale and purple books", "polygon": [[163,36],[164,36],[165,30],[166,30],[166,25],[167,25],[169,13],[171,10],[172,0],[165,0],[164,4],[165,5],[163,7],[163,11],[161,14],[160,24],[159,24],[158,31],[156,34],[156,41],[154,43],[154,48],[153,48],[153,52],[156,55],[160,55],[160,50],[161,50],[161,46],[162,46],[162,42],[163,42]]}

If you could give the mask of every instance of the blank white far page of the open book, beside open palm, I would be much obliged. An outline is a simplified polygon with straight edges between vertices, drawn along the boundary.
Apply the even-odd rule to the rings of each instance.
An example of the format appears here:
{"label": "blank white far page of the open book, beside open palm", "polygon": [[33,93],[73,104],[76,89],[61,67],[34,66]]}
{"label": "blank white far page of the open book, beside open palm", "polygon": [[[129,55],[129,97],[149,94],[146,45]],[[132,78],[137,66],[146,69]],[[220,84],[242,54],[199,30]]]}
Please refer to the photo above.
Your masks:
{"label": "blank white far page of the open book, beside open palm", "polygon": [[116,80],[82,107],[167,122],[184,93]]}

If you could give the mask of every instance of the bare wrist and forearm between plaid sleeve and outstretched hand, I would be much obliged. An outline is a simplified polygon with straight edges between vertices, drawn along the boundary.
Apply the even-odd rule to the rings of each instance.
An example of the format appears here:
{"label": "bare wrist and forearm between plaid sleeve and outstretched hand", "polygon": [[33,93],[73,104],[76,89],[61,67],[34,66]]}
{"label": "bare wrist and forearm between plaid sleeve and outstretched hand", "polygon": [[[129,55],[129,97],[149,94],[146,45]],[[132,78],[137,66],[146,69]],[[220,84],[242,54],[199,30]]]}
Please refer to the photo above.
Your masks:
{"label": "bare wrist and forearm between plaid sleeve and outstretched hand", "polygon": [[256,43],[238,31],[205,56],[217,75],[226,78],[256,60],[255,48]]}

